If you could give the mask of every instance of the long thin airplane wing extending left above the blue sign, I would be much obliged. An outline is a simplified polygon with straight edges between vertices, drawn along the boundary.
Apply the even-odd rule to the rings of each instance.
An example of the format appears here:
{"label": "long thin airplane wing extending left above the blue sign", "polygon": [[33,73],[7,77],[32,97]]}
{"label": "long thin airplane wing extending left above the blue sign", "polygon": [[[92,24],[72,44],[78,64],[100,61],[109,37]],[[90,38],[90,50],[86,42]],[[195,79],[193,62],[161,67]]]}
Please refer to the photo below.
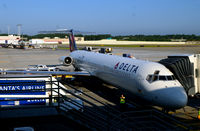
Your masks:
{"label": "long thin airplane wing extending left above the blue sign", "polygon": [[85,71],[66,72],[66,71],[0,71],[0,73],[20,73],[20,74],[48,74],[48,75],[72,75],[72,76],[91,76]]}

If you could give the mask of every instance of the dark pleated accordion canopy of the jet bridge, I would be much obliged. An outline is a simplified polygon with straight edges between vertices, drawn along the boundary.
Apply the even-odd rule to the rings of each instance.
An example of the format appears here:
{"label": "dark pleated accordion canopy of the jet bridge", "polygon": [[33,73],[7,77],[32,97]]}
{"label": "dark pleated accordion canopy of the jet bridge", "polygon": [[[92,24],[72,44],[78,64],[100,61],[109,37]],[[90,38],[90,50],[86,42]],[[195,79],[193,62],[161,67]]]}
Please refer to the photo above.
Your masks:
{"label": "dark pleated accordion canopy of the jet bridge", "polygon": [[162,59],[159,63],[167,67],[182,84],[188,93],[194,84],[194,63],[190,61],[189,56],[168,56]]}

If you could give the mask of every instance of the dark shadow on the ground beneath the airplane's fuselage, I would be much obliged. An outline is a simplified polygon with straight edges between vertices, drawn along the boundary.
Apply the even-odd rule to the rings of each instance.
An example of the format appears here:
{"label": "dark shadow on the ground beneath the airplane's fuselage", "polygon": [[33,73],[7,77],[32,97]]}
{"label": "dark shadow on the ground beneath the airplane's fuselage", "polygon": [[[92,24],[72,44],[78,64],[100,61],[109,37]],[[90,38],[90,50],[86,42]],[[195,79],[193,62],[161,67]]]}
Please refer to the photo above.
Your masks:
{"label": "dark shadow on the ground beneath the airplane's fuselage", "polygon": [[[137,108],[150,108],[151,103],[134,96],[127,90],[113,87],[108,83],[95,77],[78,77],[75,81],[69,81],[70,84],[85,87],[87,90],[95,93],[96,95],[106,99],[109,102],[115,103],[116,108],[119,107],[120,97],[123,94],[126,97],[126,103],[132,103],[134,105],[139,105]],[[76,83],[76,84],[75,84]],[[131,106],[130,106],[131,107]],[[134,107],[135,108],[135,107]]]}

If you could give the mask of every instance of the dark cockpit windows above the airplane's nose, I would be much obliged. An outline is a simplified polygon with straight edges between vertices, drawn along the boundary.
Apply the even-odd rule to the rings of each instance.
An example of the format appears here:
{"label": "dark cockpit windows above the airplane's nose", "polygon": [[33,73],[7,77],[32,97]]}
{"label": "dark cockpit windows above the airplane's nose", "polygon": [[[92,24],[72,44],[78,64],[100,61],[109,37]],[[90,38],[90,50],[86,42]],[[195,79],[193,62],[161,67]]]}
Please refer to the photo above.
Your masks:
{"label": "dark cockpit windows above the airplane's nose", "polygon": [[175,80],[176,78],[173,75],[169,75],[169,76],[164,76],[164,75],[148,75],[146,80],[148,82],[154,82],[157,80],[162,80],[162,81],[171,81],[171,80]]}

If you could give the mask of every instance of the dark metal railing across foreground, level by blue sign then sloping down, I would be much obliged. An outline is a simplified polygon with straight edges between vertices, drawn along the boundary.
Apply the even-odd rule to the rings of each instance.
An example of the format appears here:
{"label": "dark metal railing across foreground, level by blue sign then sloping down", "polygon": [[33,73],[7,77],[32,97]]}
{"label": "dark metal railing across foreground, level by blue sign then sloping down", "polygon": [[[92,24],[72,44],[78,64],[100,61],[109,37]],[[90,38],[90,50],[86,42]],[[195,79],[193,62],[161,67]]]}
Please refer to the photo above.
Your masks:
{"label": "dark metal railing across foreground, level by blue sign then sloping down", "polygon": [[[24,82],[27,85],[28,82]],[[16,83],[3,83],[4,86],[13,86]],[[19,84],[19,83],[18,83]],[[20,83],[22,84],[22,83]],[[32,85],[37,85],[38,83],[31,83]],[[157,110],[141,110],[141,111],[131,111],[131,112],[120,112],[114,107],[110,106],[107,103],[103,103],[90,95],[79,91],[72,85],[65,83],[67,86],[74,89],[76,92],[80,92],[85,98],[76,95],[71,90],[61,87],[60,82],[45,81],[45,85],[48,85],[48,88],[44,89],[34,89],[31,90],[33,93],[37,92],[45,92],[47,93],[44,97],[34,97],[34,98],[13,98],[13,99],[0,99],[0,103],[9,102],[9,101],[31,101],[31,100],[41,100],[44,99],[46,101],[45,105],[18,105],[18,106],[4,106],[0,107],[0,110],[4,109],[13,109],[14,108],[33,108],[33,107],[55,107],[64,114],[66,117],[71,117],[73,120],[77,120],[81,124],[90,127],[94,130],[160,130],[160,129],[173,129],[173,130],[188,130],[189,127],[184,123],[181,123],[174,118],[165,115]],[[2,86],[2,83],[0,83]],[[66,94],[61,93],[61,90]],[[7,90],[0,91],[0,94],[5,93],[26,93],[30,92],[30,90]],[[88,106],[84,106],[83,103],[79,103],[74,98],[81,100]],[[88,99],[92,99],[96,103],[101,104],[102,106],[97,106],[93,102]],[[75,108],[76,107],[76,108]],[[78,110],[77,110],[78,109]],[[70,114],[70,115],[69,115]]]}

